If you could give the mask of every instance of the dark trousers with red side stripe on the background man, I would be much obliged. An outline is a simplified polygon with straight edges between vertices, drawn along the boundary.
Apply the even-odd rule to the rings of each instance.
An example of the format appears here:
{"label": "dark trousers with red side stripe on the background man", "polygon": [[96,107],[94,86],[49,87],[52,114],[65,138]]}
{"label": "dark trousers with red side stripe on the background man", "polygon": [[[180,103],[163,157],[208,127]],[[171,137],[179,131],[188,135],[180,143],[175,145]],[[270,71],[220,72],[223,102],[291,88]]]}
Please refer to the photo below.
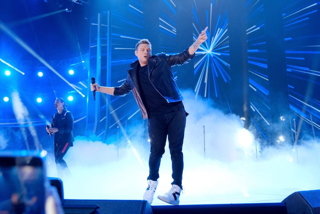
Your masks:
{"label": "dark trousers with red side stripe on the background man", "polygon": [[70,148],[70,143],[56,143],[54,145],[54,158],[57,166],[58,175],[60,178],[63,177],[63,173],[67,171],[69,173],[68,165],[63,159],[68,149]]}

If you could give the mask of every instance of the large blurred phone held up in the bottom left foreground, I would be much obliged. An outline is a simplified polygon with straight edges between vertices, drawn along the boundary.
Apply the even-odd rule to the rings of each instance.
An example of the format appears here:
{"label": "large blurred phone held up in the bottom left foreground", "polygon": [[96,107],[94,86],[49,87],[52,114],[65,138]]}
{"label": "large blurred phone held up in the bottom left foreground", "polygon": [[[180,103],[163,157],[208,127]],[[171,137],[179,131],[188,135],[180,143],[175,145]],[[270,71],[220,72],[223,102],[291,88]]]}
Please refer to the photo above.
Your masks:
{"label": "large blurred phone held up in the bottom left foreground", "polygon": [[0,213],[45,213],[43,160],[0,157]]}

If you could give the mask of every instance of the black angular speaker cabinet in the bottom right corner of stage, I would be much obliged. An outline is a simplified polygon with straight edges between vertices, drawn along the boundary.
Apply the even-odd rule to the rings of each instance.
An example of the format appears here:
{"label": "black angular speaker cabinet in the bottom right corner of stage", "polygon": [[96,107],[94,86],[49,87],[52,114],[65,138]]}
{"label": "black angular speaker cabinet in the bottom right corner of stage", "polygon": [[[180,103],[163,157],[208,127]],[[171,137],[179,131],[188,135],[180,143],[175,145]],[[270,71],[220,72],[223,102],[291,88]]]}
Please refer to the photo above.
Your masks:
{"label": "black angular speaker cabinet in the bottom right corner of stage", "polygon": [[320,190],[295,192],[282,202],[286,204],[288,214],[320,214]]}

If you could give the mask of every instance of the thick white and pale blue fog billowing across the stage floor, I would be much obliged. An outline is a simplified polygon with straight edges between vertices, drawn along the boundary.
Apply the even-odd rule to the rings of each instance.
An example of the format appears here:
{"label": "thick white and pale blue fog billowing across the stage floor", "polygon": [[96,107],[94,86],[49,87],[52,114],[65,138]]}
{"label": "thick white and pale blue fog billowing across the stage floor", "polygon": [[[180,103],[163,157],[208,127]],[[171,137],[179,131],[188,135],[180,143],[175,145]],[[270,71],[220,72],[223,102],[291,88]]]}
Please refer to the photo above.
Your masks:
{"label": "thick white and pale blue fog billowing across the stage floor", "polygon": [[[280,202],[289,194],[319,189],[320,146],[306,141],[261,149],[254,133],[236,115],[225,115],[206,100],[184,91],[187,117],[180,204]],[[65,160],[72,177],[62,178],[67,199],[141,200],[147,187],[148,137],[145,130],[117,145],[76,136]],[[115,138],[116,139],[116,138]],[[48,154],[48,175],[56,177]],[[162,158],[156,194],[170,189],[169,149]],[[201,188],[201,191],[199,191]],[[158,199],[155,205],[164,204]]]}

